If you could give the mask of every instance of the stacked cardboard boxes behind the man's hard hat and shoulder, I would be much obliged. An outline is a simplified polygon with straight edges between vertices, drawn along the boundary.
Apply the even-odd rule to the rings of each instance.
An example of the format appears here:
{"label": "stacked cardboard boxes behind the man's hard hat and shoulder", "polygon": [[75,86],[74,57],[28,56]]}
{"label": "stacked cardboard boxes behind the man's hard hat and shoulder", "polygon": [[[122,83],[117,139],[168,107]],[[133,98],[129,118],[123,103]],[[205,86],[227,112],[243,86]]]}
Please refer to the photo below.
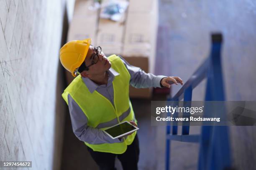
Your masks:
{"label": "stacked cardboard boxes behind the man's hard hat and shoulder", "polygon": [[[122,0],[118,0],[122,1]],[[101,19],[100,10],[92,8],[93,0],[77,0],[69,29],[69,40],[92,37],[92,45],[100,45],[105,55],[121,55],[131,65],[154,73],[156,34],[158,27],[157,0],[129,0],[128,10],[118,21]],[[102,4],[108,3],[103,0]],[[67,75],[68,82],[72,77]],[[152,88],[130,88],[130,97],[151,97]]]}

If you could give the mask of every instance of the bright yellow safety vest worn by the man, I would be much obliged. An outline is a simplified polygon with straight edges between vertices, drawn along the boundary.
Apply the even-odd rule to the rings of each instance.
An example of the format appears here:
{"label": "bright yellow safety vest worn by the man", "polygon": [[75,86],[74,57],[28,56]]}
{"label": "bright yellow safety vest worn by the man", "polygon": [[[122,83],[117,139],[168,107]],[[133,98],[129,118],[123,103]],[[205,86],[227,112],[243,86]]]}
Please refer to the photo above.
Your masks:
{"label": "bright yellow safety vest worn by the man", "polygon": [[[107,98],[96,90],[91,93],[84,84],[81,75],[78,75],[62,94],[62,97],[67,104],[68,94],[75,102],[77,102],[87,117],[87,125],[92,128],[96,128],[99,124],[104,123],[101,124],[104,125],[104,127],[100,128],[100,130],[105,130],[110,126],[113,126],[108,124],[108,122],[114,119],[117,119],[118,122],[129,122],[130,120],[135,119],[133,107],[129,98],[129,82],[131,75],[121,61],[120,57],[111,55],[108,57],[108,60],[110,60],[112,68],[119,73],[119,75],[115,76],[115,79],[113,80],[115,107],[113,107]],[[131,111],[128,115],[124,115],[123,113],[128,109]],[[125,152],[127,145],[131,145],[135,135],[136,132],[134,132],[132,135],[128,135],[126,139],[123,138],[124,140],[121,143],[84,143],[94,151],[121,154]]]}

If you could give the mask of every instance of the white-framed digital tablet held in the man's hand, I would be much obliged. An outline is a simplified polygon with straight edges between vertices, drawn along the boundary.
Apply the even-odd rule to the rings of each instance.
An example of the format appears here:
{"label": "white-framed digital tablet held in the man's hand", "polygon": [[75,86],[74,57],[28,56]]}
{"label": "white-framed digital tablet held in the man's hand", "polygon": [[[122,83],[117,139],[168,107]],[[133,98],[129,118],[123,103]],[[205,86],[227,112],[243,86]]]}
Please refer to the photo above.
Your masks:
{"label": "white-framed digital tablet held in the man's hand", "polygon": [[128,135],[129,133],[132,133],[136,130],[138,130],[136,126],[132,125],[130,122],[121,122],[118,125],[112,126],[108,129],[103,130],[110,138],[116,139],[121,138],[125,135]]}

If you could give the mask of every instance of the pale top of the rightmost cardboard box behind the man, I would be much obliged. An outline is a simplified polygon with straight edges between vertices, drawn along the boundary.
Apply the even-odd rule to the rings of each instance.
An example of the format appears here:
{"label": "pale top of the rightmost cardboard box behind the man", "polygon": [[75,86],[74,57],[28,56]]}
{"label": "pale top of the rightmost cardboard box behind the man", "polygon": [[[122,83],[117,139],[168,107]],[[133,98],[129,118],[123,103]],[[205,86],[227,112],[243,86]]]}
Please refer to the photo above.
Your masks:
{"label": "pale top of the rightmost cardboard box behind the man", "polygon": [[130,0],[124,50],[125,57],[147,57],[149,72],[154,73],[158,28],[157,0]]}

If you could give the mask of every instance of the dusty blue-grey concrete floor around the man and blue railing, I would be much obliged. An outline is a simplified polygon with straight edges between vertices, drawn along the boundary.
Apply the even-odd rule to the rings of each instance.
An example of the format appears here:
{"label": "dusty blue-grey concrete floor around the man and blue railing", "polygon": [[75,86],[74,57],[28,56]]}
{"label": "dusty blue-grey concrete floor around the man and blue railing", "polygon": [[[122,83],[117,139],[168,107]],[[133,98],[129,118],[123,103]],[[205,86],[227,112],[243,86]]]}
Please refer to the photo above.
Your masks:
{"label": "dusty blue-grey concrete floor around the man and blue railing", "polygon": [[[160,0],[159,34],[155,74],[182,77],[192,75],[210,50],[210,33],[222,32],[223,76],[227,100],[256,100],[256,2],[254,0]],[[180,86],[174,86],[174,95]],[[193,91],[193,100],[203,100],[205,81]],[[164,96],[160,97],[164,99]],[[154,98],[153,100],[160,100]],[[150,100],[132,100],[137,119],[141,155],[139,169],[164,169],[165,128],[150,125]],[[193,127],[192,133],[200,128]],[[64,141],[64,169],[94,170],[86,147],[72,133],[67,119]],[[230,128],[233,165],[253,170],[256,162],[256,128]],[[198,144],[172,143],[171,168],[197,169]],[[72,155],[72,158],[69,156]],[[86,168],[85,168],[86,167]]]}

